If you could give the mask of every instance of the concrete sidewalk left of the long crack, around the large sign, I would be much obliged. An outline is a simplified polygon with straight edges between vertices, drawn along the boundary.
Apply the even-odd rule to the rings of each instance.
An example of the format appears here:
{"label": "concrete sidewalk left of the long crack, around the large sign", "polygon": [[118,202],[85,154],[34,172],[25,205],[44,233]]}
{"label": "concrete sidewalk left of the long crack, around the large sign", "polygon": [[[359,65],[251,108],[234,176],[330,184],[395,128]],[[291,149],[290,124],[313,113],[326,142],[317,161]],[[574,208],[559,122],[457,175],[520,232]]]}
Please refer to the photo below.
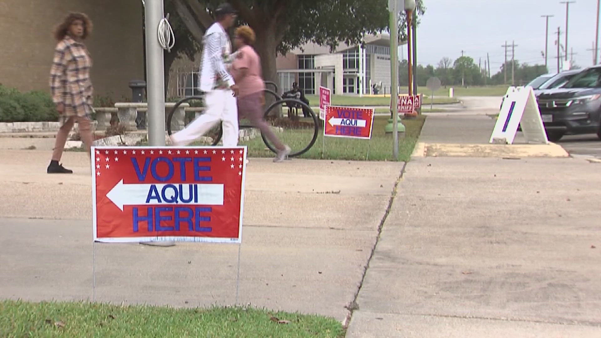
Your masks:
{"label": "concrete sidewalk left of the long crack, around the large sign", "polygon": [[[0,150],[0,298],[93,296],[88,159],[66,152],[75,174],[47,175],[49,156]],[[345,322],[403,165],[250,159],[238,304]],[[96,300],[234,305],[237,261],[237,245],[96,244]]]}

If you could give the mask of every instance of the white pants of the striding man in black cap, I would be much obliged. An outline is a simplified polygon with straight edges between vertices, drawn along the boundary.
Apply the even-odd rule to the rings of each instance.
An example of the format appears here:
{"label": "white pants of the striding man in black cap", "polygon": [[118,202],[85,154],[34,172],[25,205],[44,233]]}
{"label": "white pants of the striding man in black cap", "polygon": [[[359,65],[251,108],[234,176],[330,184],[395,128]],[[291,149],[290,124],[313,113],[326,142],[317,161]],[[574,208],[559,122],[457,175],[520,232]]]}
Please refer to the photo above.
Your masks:
{"label": "white pants of the striding man in black cap", "polygon": [[215,123],[222,121],[224,129],[224,147],[235,147],[238,144],[238,108],[236,97],[231,90],[213,90],[204,96],[206,111],[186,128],[171,135],[174,146],[188,146],[204,133],[209,131]]}

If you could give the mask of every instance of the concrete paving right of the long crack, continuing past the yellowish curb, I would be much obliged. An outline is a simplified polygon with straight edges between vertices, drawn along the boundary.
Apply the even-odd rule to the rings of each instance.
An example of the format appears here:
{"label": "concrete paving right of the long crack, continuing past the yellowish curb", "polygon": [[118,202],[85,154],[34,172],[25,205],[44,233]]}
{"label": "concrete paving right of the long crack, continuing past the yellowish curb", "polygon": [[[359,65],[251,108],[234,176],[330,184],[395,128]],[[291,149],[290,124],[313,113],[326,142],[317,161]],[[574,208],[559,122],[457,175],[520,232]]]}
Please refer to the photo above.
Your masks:
{"label": "concrete paving right of the long crack, continuing past the yellowish curb", "polygon": [[[491,121],[430,115],[420,141],[485,143]],[[601,337],[601,164],[424,155],[407,164],[347,337]]]}

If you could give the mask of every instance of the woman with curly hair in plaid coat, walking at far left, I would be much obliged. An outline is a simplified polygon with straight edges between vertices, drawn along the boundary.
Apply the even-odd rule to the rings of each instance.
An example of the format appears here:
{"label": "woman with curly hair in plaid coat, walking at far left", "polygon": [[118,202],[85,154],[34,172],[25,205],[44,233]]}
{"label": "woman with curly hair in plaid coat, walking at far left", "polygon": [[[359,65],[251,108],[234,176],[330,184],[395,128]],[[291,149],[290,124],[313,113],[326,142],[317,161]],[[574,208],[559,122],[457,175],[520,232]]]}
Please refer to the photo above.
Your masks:
{"label": "woman with curly hair in plaid coat, walking at far left", "polygon": [[56,135],[52,161],[47,168],[49,174],[73,173],[59,164],[59,161],[75,122],[79,125],[79,135],[88,152],[92,145],[92,59],[83,43],[91,31],[92,22],[83,13],[70,13],[55,30],[58,44],[50,69],[50,90],[60,115],[61,128]]}

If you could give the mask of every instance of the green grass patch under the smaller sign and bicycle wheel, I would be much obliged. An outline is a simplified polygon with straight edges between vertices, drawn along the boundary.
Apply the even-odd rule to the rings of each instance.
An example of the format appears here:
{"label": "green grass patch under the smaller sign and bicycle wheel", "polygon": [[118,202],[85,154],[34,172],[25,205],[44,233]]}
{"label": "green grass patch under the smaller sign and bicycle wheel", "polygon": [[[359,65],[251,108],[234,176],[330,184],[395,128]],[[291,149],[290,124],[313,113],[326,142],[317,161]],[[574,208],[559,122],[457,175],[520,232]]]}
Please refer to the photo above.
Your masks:
{"label": "green grass patch under the smaller sign and bicycle wheel", "polygon": [[[386,135],[384,132],[388,118],[387,116],[374,117],[371,140],[326,137],[325,148],[323,129],[320,129],[319,137],[314,146],[299,158],[393,161],[392,134]],[[418,116],[412,120],[402,121],[406,132],[398,142],[399,161],[409,161],[425,118],[424,116]],[[276,135],[282,140],[282,143],[289,144],[293,150],[298,150],[301,149],[302,145],[308,143],[311,132],[308,129],[285,129],[283,132],[277,132]],[[250,157],[273,157],[273,153],[267,149],[260,137],[240,144],[248,146]]]}

